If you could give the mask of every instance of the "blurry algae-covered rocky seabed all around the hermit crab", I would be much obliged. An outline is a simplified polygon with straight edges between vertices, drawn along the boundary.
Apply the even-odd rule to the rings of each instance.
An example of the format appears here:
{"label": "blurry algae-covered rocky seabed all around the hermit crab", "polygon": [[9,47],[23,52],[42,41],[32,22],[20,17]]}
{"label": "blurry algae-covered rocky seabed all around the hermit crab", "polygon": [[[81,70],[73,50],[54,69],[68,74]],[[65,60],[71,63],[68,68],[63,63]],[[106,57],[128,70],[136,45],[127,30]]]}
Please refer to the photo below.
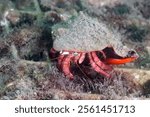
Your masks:
{"label": "blurry algae-covered rocky seabed all around the hermit crab", "polygon": [[[123,35],[139,54],[114,79],[70,81],[49,59],[53,27],[80,11]],[[100,80],[99,80],[100,79]],[[150,97],[150,0],[0,0],[0,99]]]}

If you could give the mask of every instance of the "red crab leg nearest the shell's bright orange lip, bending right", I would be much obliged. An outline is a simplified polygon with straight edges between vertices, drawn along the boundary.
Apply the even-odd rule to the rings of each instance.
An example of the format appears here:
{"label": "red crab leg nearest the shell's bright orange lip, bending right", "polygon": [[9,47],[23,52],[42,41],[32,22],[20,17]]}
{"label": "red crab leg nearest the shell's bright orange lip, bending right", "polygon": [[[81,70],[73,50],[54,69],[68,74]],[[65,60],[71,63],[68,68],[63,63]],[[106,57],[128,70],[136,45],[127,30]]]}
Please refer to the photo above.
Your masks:
{"label": "red crab leg nearest the shell's bright orange lip, bending right", "polygon": [[102,69],[104,70],[112,70],[112,68],[108,65],[105,65],[96,55],[96,52],[91,52],[91,56],[93,58],[93,61]]}

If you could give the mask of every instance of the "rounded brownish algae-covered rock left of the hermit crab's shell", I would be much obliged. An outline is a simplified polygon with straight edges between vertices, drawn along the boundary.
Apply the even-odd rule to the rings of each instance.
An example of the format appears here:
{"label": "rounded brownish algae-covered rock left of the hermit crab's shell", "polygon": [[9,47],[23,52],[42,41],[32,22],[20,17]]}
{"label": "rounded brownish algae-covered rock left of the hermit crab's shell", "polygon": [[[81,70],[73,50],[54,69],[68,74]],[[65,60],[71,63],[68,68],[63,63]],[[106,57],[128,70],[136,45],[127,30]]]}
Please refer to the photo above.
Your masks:
{"label": "rounded brownish algae-covered rock left of the hermit crab's shell", "polygon": [[14,31],[8,38],[9,43],[16,46],[18,54],[22,59],[29,59],[33,55],[39,54],[43,51],[42,44],[40,43],[42,31],[38,27],[24,26]]}

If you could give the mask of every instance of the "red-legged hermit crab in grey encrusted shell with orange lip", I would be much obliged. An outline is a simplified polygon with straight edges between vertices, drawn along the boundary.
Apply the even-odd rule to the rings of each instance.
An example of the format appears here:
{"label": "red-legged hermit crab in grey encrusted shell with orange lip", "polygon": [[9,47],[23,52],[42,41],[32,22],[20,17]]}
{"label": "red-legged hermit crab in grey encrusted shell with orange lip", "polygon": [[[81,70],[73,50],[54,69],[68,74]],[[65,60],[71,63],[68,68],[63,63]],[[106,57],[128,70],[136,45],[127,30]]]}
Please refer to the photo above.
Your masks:
{"label": "red-legged hermit crab in grey encrusted shell with orange lip", "polygon": [[[58,26],[56,26],[58,27]],[[138,58],[137,53],[122,43],[120,33],[102,21],[80,12],[63,28],[53,28],[54,43],[50,50],[58,56],[58,66],[70,79],[70,65],[85,60],[99,74],[110,78],[111,64],[125,64]]]}

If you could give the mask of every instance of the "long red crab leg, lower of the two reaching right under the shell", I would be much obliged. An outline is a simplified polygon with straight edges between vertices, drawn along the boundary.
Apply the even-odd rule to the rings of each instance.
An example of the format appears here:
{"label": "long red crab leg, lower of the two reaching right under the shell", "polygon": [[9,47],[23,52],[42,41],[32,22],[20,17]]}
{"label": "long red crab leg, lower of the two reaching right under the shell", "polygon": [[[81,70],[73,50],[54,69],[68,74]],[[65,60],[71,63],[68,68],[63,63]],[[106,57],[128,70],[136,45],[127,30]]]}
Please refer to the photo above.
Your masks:
{"label": "long red crab leg, lower of the two reaching right under the shell", "polygon": [[91,66],[93,67],[93,69],[94,69],[96,72],[98,72],[98,73],[100,73],[100,74],[103,74],[104,76],[106,76],[106,77],[109,78],[110,75],[109,75],[108,73],[104,72],[104,71],[95,63],[95,61],[94,61],[93,58],[92,58],[91,53],[88,53],[88,56],[89,56],[90,64],[91,64]]}

